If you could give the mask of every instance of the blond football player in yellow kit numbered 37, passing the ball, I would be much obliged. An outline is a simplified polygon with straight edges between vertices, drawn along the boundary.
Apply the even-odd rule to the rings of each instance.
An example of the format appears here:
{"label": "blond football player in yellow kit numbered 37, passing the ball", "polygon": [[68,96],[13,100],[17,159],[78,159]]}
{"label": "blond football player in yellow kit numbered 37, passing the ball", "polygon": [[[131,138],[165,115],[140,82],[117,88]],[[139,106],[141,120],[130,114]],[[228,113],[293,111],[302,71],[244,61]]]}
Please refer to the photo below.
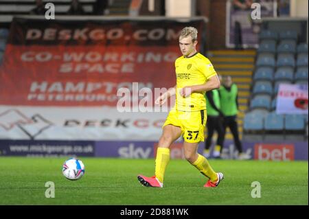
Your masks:
{"label": "blond football player in yellow kit numbered 37, passing the ball", "polygon": [[137,176],[148,187],[163,187],[165,169],[170,161],[170,146],[183,135],[185,159],[208,178],[204,187],[216,187],[223,179],[221,172],[214,172],[207,159],[197,153],[198,143],[204,141],[207,120],[205,91],[218,89],[220,81],[211,62],[196,51],[197,30],[185,27],[179,36],[183,56],[175,61],[176,86],[157,98],[155,104],[164,104],[176,95],[172,108],[163,125],[155,161],[155,176]]}

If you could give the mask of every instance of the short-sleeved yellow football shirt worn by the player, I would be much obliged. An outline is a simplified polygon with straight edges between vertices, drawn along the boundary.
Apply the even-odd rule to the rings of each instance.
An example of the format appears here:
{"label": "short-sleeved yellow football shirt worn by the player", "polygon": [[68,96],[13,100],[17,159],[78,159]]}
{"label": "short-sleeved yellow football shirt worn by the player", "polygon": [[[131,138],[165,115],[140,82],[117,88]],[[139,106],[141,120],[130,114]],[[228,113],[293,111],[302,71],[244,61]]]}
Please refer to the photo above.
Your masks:
{"label": "short-sleeved yellow football shirt worn by the player", "polygon": [[211,62],[200,53],[189,58],[181,56],[175,61],[176,69],[176,103],[178,111],[201,111],[206,109],[205,91],[194,92],[188,97],[182,97],[179,90],[186,86],[204,84],[212,76],[216,76]]}

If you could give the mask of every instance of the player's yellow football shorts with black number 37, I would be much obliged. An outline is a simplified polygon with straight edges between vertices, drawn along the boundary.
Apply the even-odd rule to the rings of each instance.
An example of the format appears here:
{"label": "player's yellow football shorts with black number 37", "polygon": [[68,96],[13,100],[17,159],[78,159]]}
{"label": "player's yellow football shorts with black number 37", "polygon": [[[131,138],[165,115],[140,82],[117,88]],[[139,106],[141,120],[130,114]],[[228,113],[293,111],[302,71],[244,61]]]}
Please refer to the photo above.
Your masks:
{"label": "player's yellow football shorts with black number 37", "polygon": [[186,142],[197,143],[204,141],[204,129],[207,121],[206,110],[185,112],[172,108],[166,118],[164,126],[169,124],[179,126],[181,135]]}

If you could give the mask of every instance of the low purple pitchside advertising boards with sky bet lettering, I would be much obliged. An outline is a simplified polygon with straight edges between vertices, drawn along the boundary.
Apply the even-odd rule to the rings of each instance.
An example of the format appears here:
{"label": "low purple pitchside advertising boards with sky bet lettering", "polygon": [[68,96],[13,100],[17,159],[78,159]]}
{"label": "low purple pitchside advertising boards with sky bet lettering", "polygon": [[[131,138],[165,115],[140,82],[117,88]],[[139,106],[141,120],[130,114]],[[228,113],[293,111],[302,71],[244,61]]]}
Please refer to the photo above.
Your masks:
{"label": "low purple pitchside advertising boards with sky bet lettering", "polygon": [[[122,159],[152,159],[157,141],[45,141],[0,140],[0,156],[23,157],[116,157]],[[204,143],[198,152],[203,154]],[[283,141],[272,143],[243,142],[244,153],[260,161],[308,161],[308,142]],[[233,142],[226,141],[223,159],[234,159]],[[171,146],[172,159],[184,159],[182,142]]]}

